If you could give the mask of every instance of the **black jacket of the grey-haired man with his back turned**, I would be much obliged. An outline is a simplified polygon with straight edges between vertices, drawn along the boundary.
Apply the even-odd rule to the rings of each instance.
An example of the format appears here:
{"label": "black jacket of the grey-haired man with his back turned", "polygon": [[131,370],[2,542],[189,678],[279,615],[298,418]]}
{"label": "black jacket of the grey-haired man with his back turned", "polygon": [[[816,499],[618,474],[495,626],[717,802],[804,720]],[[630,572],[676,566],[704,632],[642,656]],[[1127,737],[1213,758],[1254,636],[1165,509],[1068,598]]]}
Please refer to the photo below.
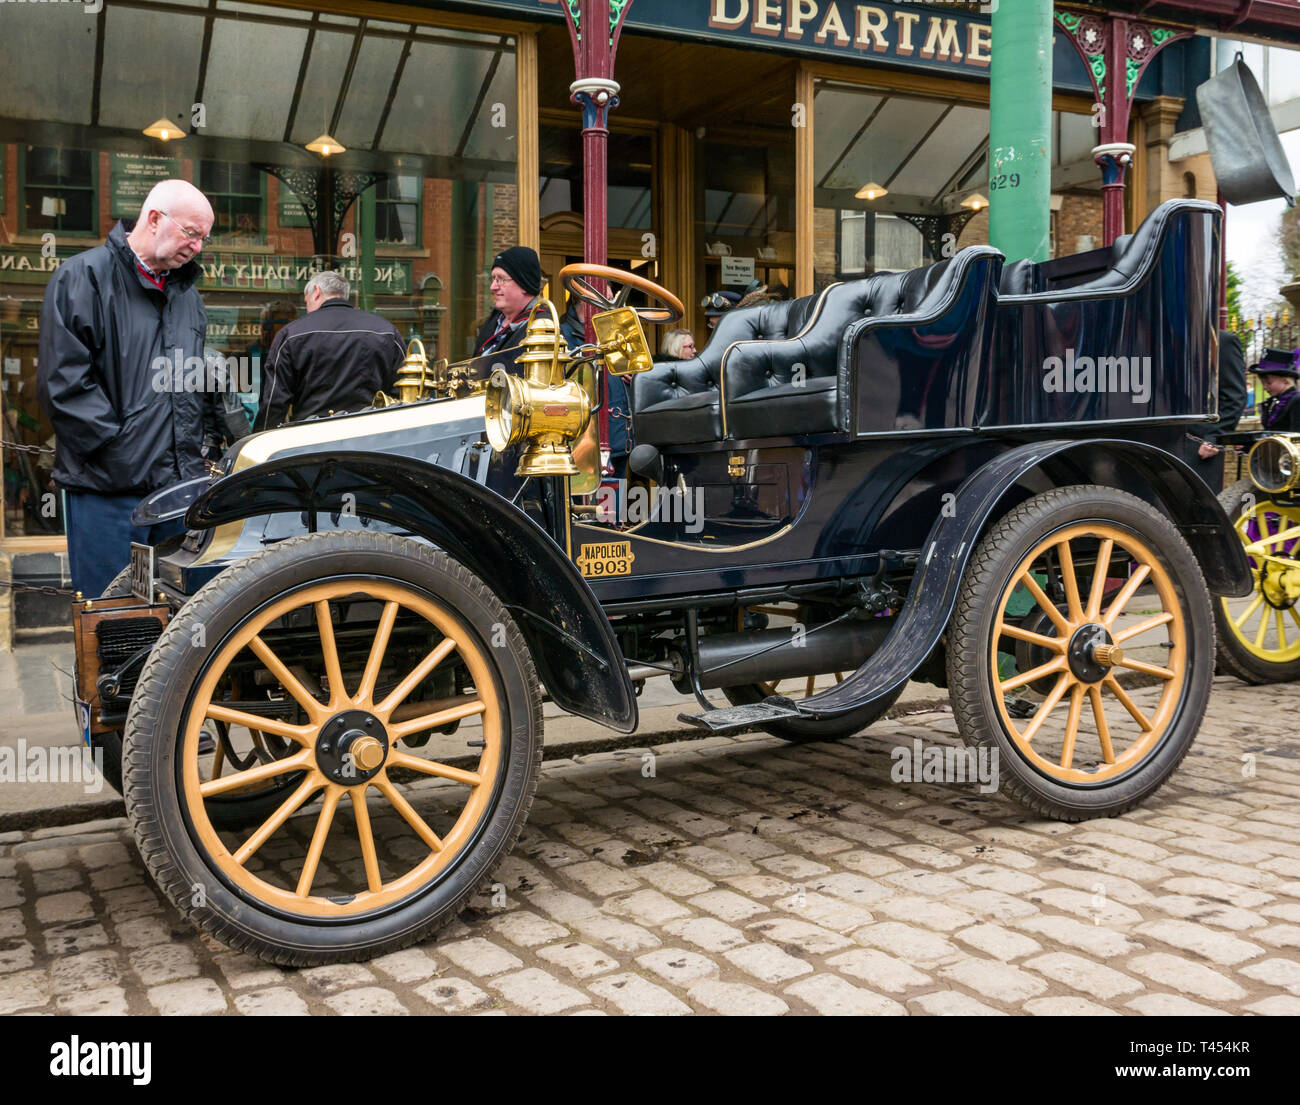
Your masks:
{"label": "black jacket of the grey-haired man with his back turned", "polygon": [[360,411],[387,391],[406,359],[396,328],[346,299],[326,299],[270,343],[254,429],[329,411]]}

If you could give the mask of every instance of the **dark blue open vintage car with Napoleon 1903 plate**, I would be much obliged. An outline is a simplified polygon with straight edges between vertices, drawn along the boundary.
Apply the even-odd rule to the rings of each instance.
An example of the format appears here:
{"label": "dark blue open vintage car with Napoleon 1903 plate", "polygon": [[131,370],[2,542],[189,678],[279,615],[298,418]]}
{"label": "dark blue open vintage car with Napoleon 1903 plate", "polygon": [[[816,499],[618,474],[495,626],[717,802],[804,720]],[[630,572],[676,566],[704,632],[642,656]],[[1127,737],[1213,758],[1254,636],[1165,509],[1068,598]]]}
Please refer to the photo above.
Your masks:
{"label": "dark blue open vintage car with Napoleon 1903 plate", "polygon": [[[1201,722],[1210,592],[1252,586],[1182,459],[1214,417],[1219,250],[1218,208],[1173,202],[1113,250],[972,247],[737,311],[653,368],[640,324],[680,303],[569,266],[599,338],[576,356],[543,300],[515,370],[412,356],[410,402],[240,441],[142,504],[187,507],[183,541],[79,604],[146,863],[276,962],[402,946],[517,838],[542,696],[630,733],[655,676],[697,725],[790,741],[946,685],[1006,794],[1132,807]],[[573,495],[597,360],[636,373],[616,508]]]}

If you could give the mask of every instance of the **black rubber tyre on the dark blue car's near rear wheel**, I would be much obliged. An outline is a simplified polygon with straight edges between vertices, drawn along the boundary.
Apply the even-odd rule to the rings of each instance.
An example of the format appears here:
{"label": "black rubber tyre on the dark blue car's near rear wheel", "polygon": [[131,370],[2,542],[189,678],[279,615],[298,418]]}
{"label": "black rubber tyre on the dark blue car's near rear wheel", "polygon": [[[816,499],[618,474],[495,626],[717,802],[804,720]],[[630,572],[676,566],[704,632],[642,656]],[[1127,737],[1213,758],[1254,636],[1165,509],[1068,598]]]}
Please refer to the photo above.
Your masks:
{"label": "black rubber tyre on the dark blue car's near rear wheel", "polygon": [[[1187,627],[1187,677],[1169,728],[1132,770],[1098,784],[1050,779],[1006,733],[993,701],[989,645],[997,604],[1020,560],[1050,533],[1080,521],[1128,529],[1169,573]],[[997,750],[1000,789],[1057,820],[1117,816],[1150,797],[1182,762],[1209,701],[1214,677],[1214,616],[1200,566],[1178,529],[1135,495],[1112,488],[1056,488],[1035,495],[984,536],[962,580],[948,630],[948,686],[962,741]]]}

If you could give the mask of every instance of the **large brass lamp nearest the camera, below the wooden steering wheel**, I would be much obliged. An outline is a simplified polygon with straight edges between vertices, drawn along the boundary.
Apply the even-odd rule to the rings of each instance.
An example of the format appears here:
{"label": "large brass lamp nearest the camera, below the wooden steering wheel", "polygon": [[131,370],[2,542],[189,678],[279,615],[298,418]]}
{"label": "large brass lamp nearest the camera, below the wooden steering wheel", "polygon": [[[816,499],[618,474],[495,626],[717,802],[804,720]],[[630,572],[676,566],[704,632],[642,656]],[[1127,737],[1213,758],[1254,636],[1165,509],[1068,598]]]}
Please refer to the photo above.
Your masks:
{"label": "large brass lamp nearest the camera, below the wooden steering wheel", "polygon": [[524,376],[499,367],[488,380],[488,442],[495,452],[526,442],[516,476],[576,476],[572,446],[592,417],[592,398],[564,378],[573,358],[549,299],[529,313],[523,346],[515,363]]}

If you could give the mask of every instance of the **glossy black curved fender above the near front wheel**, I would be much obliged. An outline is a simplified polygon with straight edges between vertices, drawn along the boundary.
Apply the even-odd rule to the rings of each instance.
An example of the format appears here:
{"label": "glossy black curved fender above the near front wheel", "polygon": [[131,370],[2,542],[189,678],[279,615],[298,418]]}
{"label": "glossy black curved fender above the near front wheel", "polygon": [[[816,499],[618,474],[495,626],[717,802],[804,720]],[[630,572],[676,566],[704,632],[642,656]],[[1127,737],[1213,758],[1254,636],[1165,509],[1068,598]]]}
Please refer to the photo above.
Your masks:
{"label": "glossy black curved fender above the near front wheel", "polygon": [[480,576],[519,623],[563,710],[623,733],[636,729],[627,663],[586,581],[540,525],[459,472],[376,452],[289,456],[212,485],[190,507],[186,525],[208,529],[255,515],[344,507],[419,533]]}

